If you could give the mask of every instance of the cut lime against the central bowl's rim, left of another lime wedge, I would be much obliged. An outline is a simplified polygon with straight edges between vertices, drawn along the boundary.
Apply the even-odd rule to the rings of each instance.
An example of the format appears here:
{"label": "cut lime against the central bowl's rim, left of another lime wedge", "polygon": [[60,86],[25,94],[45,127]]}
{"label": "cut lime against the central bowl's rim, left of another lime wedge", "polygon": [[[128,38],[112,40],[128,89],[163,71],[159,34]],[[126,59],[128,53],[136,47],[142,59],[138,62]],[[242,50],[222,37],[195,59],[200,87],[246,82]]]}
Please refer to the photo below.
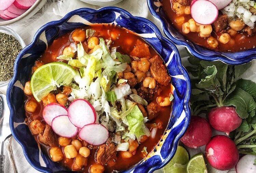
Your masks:
{"label": "cut lime against the central bowl's rim, left of another lime wedge", "polygon": [[178,146],[172,160],[163,167],[164,173],[186,173],[186,165],[189,161],[187,150]]}

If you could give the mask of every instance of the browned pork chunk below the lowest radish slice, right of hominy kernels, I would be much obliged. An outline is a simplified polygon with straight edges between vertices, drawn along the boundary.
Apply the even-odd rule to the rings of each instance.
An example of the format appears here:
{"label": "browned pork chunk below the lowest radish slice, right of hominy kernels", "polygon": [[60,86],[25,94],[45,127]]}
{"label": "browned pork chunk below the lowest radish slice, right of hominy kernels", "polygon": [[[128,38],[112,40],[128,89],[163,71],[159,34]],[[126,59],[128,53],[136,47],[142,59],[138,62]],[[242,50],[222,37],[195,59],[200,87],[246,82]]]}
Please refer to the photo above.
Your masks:
{"label": "browned pork chunk below the lowest radish slice, right of hominy kernels", "polygon": [[102,144],[99,146],[96,154],[96,161],[99,164],[109,164],[116,162],[117,159],[117,151],[116,146],[110,140],[107,141],[106,144]]}

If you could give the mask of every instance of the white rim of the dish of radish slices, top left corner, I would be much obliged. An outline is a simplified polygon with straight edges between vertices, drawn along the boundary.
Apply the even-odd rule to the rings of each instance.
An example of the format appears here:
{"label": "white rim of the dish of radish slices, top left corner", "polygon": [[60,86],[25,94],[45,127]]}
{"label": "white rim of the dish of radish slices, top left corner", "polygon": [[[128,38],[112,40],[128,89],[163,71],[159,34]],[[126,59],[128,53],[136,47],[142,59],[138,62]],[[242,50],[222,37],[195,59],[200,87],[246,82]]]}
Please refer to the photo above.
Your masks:
{"label": "white rim of the dish of radish slices, top left corner", "polygon": [[20,21],[20,20],[23,20],[26,18],[30,18],[31,16],[36,14],[43,7],[43,5],[46,3],[46,1],[47,0],[37,0],[25,13],[23,13],[22,15],[14,18],[14,19],[4,20],[4,19],[0,18],[0,26],[10,25],[17,21]]}

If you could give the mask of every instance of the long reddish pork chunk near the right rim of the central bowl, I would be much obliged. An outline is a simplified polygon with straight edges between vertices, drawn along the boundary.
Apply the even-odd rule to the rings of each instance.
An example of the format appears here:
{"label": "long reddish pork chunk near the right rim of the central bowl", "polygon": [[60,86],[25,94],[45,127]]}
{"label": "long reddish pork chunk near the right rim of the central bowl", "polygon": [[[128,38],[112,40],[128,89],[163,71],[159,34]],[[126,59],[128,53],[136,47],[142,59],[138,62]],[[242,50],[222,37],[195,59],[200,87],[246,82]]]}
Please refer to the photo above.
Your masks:
{"label": "long reddish pork chunk near the right rim of the central bowl", "polygon": [[170,84],[171,76],[168,74],[165,65],[163,64],[163,60],[158,56],[154,56],[149,59],[151,63],[150,73],[153,78],[161,85],[167,86]]}

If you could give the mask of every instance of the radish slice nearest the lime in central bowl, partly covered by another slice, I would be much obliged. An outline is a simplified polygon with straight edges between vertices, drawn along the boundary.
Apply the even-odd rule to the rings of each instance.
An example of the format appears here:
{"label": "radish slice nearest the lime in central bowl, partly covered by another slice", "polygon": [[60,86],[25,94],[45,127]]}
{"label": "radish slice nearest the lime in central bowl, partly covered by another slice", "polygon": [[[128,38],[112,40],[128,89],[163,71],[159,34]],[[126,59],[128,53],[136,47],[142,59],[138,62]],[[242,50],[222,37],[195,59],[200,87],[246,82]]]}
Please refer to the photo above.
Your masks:
{"label": "radish slice nearest the lime in central bowl, partly covered by another slice", "polygon": [[59,115],[68,115],[66,107],[60,104],[50,103],[43,109],[43,119],[50,126],[52,125],[52,120]]}

